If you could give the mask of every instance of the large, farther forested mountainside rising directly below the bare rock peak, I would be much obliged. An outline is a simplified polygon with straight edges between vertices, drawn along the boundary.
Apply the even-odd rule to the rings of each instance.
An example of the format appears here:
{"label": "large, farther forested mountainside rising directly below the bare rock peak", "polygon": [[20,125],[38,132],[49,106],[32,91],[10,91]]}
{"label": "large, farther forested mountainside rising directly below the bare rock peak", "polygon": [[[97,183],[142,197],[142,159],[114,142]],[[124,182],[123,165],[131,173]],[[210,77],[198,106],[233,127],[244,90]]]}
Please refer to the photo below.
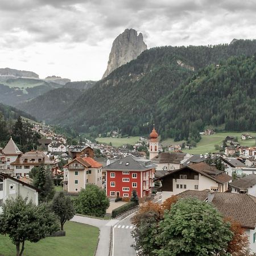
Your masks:
{"label": "large, farther forested mountainside rising directly below the bare rock peak", "polygon": [[[179,117],[182,126],[185,125],[187,115],[178,108],[175,108],[175,116],[160,113],[161,110],[166,113],[168,105],[172,106],[168,111],[174,112],[173,107],[180,104],[182,99],[179,97],[178,101],[174,98],[173,91],[176,89],[176,97],[182,94],[184,82],[191,81],[196,72],[209,64],[220,64],[221,61],[235,55],[251,56],[255,52],[256,40],[238,40],[233,44],[208,47],[151,48],[144,51],[136,60],[98,81],[93,88],[86,90],[61,112],[59,118],[50,121],[94,134],[118,128],[123,134],[139,135],[148,134],[155,120],[165,137],[177,137],[176,133],[171,131],[175,125],[172,120]],[[169,101],[164,100],[163,105],[158,103],[167,96],[170,97],[167,98]],[[213,97],[213,103],[217,102],[216,97]],[[183,103],[193,109],[195,102],[189,101],[189,94],[185,99],[187,102]],[[202,119],[203,124],[208,123],[203,120],[206,118],[205,115],[198,117]],[[188,128],[188,131],[190,129]],[[181,134],[180,131],[178,133]],[[187,132],[178,135],[183,138],[187,136]]]}

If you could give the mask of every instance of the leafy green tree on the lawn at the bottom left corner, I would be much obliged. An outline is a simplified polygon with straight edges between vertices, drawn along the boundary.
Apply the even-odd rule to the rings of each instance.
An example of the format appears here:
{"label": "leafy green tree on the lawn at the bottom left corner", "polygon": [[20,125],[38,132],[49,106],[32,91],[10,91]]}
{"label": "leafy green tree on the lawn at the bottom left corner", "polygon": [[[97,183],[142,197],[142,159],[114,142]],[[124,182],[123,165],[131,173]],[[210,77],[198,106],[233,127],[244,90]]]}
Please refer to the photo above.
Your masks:
{"label": "leafy green tree on the lawn at the bottom left corner", "polygon": [[20,196],[15,200],[6,200],[3,204],[3,212],[0,214],[0,233],[9,235],[16,246],[16,256],[23,254],[25,241],[38,242],[58,229],[55,214],[45,204],[36,206]]}

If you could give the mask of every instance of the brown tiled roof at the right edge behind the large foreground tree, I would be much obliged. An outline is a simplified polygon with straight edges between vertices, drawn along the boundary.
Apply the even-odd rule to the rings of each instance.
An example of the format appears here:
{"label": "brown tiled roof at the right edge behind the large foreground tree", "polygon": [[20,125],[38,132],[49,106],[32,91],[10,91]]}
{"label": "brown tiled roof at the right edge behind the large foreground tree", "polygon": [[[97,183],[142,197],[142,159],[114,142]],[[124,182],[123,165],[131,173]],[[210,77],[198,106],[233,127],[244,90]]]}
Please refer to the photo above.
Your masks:
{"label": "brown tiled roof at the right edge behind the large foreground tree", "polygon": [[[208,191],[184,191],[179,197],[197,197],[207,200]],[[224,217],[232,218],[241,224],[242,228],[254,229],[256,226],[256,198],[247,194],[213,192],[212,204]]]}

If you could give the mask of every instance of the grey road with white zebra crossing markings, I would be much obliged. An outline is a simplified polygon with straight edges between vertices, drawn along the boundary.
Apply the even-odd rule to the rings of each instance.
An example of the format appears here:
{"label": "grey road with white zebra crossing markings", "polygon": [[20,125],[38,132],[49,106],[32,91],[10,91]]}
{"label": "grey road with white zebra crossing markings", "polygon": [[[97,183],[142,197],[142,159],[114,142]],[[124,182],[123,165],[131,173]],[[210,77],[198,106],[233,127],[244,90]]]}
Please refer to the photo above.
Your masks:
{"label": "grey road with white zebra crossing markings", "polygon": [[134,240],[131,231],[134,226],[131,224],[131,217],[127,216],[119,221],[113,228],[113,251],[112,256],[136,256],[136,251],[131,247]]}

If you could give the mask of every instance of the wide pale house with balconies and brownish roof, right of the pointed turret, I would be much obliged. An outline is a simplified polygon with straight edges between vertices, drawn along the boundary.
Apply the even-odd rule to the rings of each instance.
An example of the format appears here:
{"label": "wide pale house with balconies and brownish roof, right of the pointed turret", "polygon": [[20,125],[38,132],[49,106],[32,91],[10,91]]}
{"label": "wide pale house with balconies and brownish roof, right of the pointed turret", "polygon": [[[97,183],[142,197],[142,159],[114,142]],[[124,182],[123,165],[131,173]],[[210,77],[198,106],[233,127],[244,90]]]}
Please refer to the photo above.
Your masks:
{"label": "wide pale house with balconies and brownish roof, right of the pointed turret", "polygon": [[19,155],[14,162],[10,164],[14,169],[14,176],[28,176],[33,167],[40,165],[49,166],[53,174],[56,173],[59,160],[51,160],[43,151],[32,150]]}

